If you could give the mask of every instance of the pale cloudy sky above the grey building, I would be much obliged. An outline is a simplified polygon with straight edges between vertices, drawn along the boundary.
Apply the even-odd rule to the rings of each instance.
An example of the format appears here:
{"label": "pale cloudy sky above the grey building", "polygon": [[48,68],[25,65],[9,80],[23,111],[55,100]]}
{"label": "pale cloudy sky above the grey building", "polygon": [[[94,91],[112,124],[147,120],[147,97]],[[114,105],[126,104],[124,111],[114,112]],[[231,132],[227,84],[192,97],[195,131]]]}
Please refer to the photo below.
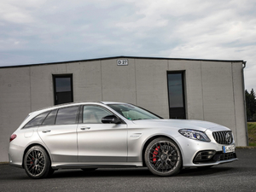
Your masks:
{"label": "pale cloudy sky above the grey building", "polygon": [[0,2],[0,67],[119,55],[247,61],[256,90],[256,1]]}

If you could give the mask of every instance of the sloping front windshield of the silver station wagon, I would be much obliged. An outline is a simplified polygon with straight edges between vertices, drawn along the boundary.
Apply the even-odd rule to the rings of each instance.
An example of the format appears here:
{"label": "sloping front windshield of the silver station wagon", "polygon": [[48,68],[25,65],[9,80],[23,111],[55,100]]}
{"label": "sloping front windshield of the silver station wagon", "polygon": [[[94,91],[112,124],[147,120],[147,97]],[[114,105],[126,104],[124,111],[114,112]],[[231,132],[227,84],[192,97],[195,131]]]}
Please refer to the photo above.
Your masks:
{"label": "sloping front windshield of the silver station wagon", "polygon": [[161,119],[156,114],[131,104],[108,104],[108,107],[113,108],[117,113],[130,120]]}

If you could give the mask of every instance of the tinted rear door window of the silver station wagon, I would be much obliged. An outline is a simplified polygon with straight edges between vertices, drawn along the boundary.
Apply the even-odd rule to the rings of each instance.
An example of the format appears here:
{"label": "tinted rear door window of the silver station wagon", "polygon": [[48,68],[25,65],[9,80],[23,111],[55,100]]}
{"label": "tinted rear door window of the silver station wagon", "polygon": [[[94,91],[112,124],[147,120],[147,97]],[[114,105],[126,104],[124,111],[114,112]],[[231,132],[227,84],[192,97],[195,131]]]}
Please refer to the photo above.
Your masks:
{"label": "tinted rear door window of the silver station wagon", "polygon": [[76,124],[79,106],[60,108],[57,113],[55,125]]}

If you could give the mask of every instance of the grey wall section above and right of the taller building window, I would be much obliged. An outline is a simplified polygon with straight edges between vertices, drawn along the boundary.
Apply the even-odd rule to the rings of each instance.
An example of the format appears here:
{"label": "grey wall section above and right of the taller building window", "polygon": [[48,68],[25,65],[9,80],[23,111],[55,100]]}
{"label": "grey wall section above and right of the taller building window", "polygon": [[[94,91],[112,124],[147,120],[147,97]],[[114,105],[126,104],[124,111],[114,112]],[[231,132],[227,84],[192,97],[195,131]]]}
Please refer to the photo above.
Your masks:
{"label": "grey wall section above and right of the taller building window", "polygon": [[185,71],[187,119],[227,126],[247,145],[242,62],[170,60],[168,70]]}

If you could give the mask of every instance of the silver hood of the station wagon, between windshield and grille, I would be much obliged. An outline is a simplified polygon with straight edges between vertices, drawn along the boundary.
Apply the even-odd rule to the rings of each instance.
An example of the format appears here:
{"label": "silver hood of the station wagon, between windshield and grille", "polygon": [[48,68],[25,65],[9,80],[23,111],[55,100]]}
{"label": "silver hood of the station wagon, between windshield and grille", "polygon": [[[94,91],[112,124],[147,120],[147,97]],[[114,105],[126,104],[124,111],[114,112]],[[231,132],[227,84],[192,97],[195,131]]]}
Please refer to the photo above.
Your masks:
{"label": "silver hood of the station wagon, between windshield and grille", "polygon": [[198,131],[207,131],[214,127],[224,127],[208,121],[188,120],[188,119],[141,119],[133,120],[136,125],[147,125],[149,127],[172,127],[177,129],[191,129]]}

